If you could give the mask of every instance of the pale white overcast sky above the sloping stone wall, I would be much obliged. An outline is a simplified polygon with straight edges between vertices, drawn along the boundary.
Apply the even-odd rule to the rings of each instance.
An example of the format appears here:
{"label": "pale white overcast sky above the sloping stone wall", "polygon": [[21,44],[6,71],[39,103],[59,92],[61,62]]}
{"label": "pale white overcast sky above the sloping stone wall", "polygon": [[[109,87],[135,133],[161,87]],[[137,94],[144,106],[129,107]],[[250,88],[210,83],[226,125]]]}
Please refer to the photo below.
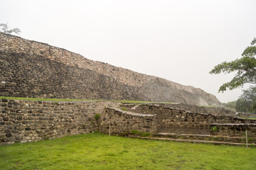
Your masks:
{"label": "pale white overcast sky above the sloping stone wall", "polygon": [[[241,57],[256,37],[255,0],[0,0],[0,23],[20,36],[135,72],[218,94],[231,74],[208,74]],[[245,89],[245,88],[244,88]]]}

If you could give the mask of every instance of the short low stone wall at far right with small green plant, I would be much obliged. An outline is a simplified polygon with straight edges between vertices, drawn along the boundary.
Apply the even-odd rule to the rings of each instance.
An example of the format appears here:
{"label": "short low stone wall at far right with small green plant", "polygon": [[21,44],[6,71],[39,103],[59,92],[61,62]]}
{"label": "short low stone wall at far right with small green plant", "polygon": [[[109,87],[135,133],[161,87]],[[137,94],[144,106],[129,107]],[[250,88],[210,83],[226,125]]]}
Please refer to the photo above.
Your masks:
{"label": "short low stone wall at far right with small green plant", "polygon": [[256,123],[212,123],[210,135],[244,136],[247,130],[248,137],[256,137]]}

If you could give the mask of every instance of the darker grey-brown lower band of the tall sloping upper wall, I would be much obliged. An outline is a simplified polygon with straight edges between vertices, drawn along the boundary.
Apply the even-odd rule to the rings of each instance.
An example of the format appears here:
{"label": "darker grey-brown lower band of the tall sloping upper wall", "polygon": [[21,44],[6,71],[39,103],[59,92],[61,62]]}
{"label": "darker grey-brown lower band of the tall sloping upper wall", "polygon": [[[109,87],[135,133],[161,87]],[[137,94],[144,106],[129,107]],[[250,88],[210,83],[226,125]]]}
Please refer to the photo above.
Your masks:
{"label": "darker grey-brown lower band of the tall sloping upper wall", "polygon": [[90,69],[69,67],[39,55],[0,51],[0,70],[0,96],[142,99],[136,88],[112,77]]}

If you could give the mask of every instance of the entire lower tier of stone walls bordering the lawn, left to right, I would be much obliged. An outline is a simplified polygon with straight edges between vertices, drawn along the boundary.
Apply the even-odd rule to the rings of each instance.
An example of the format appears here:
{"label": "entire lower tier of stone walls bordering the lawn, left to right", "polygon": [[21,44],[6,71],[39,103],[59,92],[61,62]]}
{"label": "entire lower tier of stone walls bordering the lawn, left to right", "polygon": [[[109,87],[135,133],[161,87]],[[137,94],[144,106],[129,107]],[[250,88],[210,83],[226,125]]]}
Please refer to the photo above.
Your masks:
{"label": "entire lower tier of stone walls bordering the lawn, left to right", "polygon": [[[256,120],[235,118],[231,115],[192,113],[175,108],[155,105],[134,106],[126,110],[118,102],[110,101],[18,101],[0,99],[0,145],[14,142],[64,137],[97,131],[96,114],[101,114],[100,132],[123,134],[124,132],[189,133],[210,135],[210,126],[239,124],[247,127],[255,138]],[[128,108],[128,106],[127,106]],[[219,128],[219,135],[238,133],[238,128]],[[245,128],[240,128],[240,134]],[[234,131],[234,132],[233,132]]]}

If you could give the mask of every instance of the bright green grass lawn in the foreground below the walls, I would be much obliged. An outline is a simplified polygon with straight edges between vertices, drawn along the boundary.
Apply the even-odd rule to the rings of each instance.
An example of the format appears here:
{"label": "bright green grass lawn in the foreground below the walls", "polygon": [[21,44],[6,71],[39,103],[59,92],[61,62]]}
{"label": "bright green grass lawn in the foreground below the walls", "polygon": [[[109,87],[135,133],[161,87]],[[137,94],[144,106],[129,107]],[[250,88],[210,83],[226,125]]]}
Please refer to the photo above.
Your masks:
{"label": "bright green grass lawn in the foreground below the walls", "polygon": [[0,169],[255,169],[256,148],[74,135],[0,147]]}

